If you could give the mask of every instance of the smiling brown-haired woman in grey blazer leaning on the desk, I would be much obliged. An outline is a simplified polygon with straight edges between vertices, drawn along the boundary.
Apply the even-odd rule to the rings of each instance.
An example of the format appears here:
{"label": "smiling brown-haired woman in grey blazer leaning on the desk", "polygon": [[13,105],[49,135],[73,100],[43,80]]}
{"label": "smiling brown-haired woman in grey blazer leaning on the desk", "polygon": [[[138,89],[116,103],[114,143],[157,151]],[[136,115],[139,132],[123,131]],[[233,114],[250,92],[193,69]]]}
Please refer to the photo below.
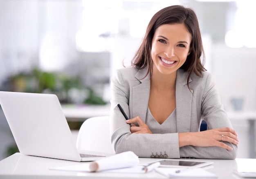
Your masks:
{"label": "smiling brown-haired woman in grey blazer leaning on the desk", "polygon": [[[111,80],[110,133],[117,153],[236,158],[237,134],[202,55],[193,10],[175,5],[153,16],[132,66],[117,70]],[[208,130],[199,131],[202,119]]]}

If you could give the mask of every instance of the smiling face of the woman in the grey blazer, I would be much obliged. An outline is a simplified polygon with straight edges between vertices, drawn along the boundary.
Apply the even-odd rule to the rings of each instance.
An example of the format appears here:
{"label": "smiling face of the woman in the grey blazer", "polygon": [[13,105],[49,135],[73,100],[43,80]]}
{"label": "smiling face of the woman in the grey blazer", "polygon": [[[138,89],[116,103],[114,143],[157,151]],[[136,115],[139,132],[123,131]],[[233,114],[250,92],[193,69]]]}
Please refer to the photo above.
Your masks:
{"label": "smiling face of the woman in the grey blazer", "polygon": [[152,40],[151,57],[155,69],[164,75],[179,69],[189,55],[191,34],[184,24],[159,26]]}

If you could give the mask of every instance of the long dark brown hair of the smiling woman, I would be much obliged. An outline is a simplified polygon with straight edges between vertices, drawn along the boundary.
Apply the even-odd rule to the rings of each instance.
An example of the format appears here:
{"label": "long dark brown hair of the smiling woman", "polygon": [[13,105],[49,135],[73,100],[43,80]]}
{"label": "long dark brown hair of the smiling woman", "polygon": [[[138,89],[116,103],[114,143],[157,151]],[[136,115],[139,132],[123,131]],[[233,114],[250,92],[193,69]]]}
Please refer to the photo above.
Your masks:
{"label": "long dark brown hair of the smiling woman", "polygon": [[[152,40],[156,29],[163,24],[184,24],[189,33],[191,33],[190,54],[188,55],[185,63],[180,67],[189,73],[187,78],[187,84],[189,86],[189,78],[193,72],[198,76],[202,76],[202,71],[206,70],[203,66],[204,50],[198,19],[192,9],[185,8],[180,5],[174,5],[158,11],[148,24],[141,46],[132,59],[132,66],[137,69],[144,69],[147,66],[146,75],[148,75],[149,72],[152,72]],[[202,62],[200,59],[201,56]]]}

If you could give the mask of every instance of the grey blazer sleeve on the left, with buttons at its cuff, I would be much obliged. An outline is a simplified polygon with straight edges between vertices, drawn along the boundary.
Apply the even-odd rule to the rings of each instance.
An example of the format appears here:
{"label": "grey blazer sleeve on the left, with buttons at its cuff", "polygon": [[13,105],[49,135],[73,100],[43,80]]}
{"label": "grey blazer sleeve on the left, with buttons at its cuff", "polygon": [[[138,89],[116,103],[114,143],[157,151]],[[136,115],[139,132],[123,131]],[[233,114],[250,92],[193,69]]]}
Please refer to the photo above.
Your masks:
{"label": "grey blazer sleeve on the left, with buttons at its cuff", "polygon": [[[122,106],[126,115],[132,118],[129,113],[129,102],[130,93],[132,93],[131,83],[135,82],[136,79],[134,78],[128,81],[123,75],[125,74],[117,71],[117,73],[112,76],[110,85],[110,134],[115,152],[133,151],[139,157],[148,158],[151,155],[161,154],[168,155],[168,158],[180,158],[178,133],[132,134],[130,132],[130,126],[126,124],[124,116],[117,107],[117,103]],[[131,76],[131,74],[129,74],[129,76]]]}

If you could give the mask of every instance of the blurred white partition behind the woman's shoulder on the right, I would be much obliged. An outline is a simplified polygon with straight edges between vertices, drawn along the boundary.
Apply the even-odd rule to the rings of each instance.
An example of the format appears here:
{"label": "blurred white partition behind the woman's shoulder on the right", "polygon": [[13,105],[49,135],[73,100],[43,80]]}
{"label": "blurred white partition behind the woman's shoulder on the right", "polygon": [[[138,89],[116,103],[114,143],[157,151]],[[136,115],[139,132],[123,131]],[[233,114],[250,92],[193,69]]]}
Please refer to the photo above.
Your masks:
{"label": "blurred white partition behind the woman's shoulder on the right", "polygon": [[212,46],[212,73],[226,110],[234,110],[232,98],[243,98],[243,110],[256,110],[256,49]]}

